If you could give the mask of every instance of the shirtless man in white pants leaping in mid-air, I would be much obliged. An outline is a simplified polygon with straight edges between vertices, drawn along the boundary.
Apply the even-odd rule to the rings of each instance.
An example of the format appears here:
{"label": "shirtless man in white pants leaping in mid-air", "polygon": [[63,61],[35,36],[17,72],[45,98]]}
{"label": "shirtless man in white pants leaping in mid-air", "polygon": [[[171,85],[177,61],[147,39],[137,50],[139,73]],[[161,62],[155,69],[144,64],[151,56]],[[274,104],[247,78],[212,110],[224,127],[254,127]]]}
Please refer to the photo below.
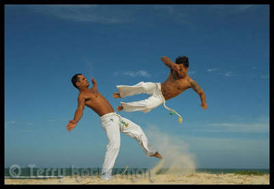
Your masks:
{"label": "shirtless man in white pants leaping in mid-air", "polygon": [[163,56],[161,59],[164,64],[171,69],[166,81],[164,81],[164,83],[140,82],[133,86],[117,85],[116,87],[119,90],[119,93],[113,93],[113,98],[124,98],[140,93],[147,93],[150,95],[148,99],[140,100],[138,102],[121,102],[121,105],[116,107],[117,111],[142,111],[147,113],[151,111],[151,109],[160,106],[161,104],[165,104],[166,100],[174,98],[190,88],[200,96],[201,107],[203,109],[208,108],[205,93],[201,87],[188,76],[188,57],[177,57],[175,63],[168,57]]}

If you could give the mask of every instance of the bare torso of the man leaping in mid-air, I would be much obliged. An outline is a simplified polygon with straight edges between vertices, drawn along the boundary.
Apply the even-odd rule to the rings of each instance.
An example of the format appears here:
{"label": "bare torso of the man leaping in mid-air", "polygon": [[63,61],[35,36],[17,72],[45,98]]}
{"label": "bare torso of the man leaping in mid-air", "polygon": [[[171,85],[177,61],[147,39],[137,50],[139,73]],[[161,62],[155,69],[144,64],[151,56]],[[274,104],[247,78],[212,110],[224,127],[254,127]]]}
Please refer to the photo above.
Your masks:
{"label": "bare torso of the man leaping in mid-air", "polygon": [[188,75],[179,78],[176,72],[171,72],[166,81],[161,83],[161,91],[164,99],[169,100],[189,89],[191,87],[190,81],[191,78]]}

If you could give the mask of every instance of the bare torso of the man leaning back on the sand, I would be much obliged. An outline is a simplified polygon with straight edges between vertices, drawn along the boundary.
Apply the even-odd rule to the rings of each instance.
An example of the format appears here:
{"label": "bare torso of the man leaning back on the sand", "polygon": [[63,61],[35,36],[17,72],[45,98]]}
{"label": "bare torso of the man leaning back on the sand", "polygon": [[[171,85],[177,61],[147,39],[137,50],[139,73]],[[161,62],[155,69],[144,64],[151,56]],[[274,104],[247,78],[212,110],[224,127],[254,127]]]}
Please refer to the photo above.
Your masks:
{"label": "bare torso of the man leaning back on the sand", "polygon": [[114,109],[101,93],[88,89],[81,91],[79,96],[85,99],[85,105],[95,111],[100,117],[106,113],[114,113]]}

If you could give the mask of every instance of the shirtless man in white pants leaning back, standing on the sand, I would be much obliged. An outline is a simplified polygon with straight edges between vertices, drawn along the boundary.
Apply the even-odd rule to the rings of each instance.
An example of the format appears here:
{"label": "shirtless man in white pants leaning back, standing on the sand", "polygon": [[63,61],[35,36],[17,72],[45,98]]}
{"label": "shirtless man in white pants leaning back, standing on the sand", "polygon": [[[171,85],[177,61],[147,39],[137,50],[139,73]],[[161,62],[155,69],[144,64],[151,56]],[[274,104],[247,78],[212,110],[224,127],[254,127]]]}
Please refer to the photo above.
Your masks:
{"label": "shirtless man in white pants leaning back, standing on the sand", "polygon": [[88,80],[82,74],[75,74],[71,79],[74,87],[79,89],[78,107],[75,111],[74,119],[69,120],[69,123],[66,125],[66,130],[71,132],[77,126],[78,121],[82,118],[85,106],[91,108],[92,111],[95,111],[101,117],[101,125],[108,137],[101,178],[106,180],[112,179],[112,168],[120,149],[120,131],[132,139],[136,139],[148,158],[154,156],[162,159],[162,156],[158,154],[147,140],[147,136],[145,136],[140,126],[129,119],[117,115],[108,100],[97,90],[95,79],[92,78],[91,81],[93,87],[89,89]]}

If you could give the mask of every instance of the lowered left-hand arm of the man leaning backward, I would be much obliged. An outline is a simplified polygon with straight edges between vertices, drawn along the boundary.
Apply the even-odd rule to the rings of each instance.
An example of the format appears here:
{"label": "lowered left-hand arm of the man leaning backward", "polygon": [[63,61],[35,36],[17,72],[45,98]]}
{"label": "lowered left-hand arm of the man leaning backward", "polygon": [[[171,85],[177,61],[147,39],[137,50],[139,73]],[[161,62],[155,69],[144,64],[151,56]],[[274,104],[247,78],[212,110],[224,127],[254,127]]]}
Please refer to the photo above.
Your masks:
{"label": "lowered left-hand arm of the man leaning backward", "polygon": [[78,107],[77,107],[77,110],[75,111],[74,118],[73,120],[69,120],[69,123],[66,125],[66,130],[71,132],[71,130],[76,127],[78,121],[82,118],[84,108],[85,108],[85,99],[84,97],[79,96]]}

